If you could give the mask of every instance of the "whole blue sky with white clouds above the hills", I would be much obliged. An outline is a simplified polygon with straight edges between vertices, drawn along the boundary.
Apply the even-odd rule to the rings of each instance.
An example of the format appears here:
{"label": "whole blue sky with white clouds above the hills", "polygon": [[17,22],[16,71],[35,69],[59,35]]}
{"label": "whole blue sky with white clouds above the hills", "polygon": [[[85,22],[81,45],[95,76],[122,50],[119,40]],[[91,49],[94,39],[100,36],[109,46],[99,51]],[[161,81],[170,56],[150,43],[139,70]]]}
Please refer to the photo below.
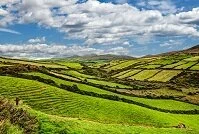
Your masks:
{"label": "whole blue sky with white clouds above the hills", "polygon": [[198,0],[0,1],[3,56],[143,56],[196,44]]}

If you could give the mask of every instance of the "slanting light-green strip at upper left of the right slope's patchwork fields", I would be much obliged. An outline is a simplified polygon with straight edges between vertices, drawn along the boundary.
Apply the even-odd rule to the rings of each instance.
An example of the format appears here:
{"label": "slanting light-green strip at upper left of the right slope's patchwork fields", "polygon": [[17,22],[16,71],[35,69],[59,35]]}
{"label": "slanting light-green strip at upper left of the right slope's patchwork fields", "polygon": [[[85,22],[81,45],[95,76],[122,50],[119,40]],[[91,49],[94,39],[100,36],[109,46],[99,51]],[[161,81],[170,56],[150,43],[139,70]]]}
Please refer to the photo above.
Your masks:
{"label": "slanting light-green strip at upper left of the right slope's patchwork fields", "polygon": [[129,61],[126,61],[126,62],[122,62],[121,64],[117,64],[115,66],[112,66],[112,67],[108,68],[108,70],[111,71],[111,70],[123,69],[123,68],[129,67],[133,64],[136,64],[138,62],[139,62],[139,60],[129,60]]}

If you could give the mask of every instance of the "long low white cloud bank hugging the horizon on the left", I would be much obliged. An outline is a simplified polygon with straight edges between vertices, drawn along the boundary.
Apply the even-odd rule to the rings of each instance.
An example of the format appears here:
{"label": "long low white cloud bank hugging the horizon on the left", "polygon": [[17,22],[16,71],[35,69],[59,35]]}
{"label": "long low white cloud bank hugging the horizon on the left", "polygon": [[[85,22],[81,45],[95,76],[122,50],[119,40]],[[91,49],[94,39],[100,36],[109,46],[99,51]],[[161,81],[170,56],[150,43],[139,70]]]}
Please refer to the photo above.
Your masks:
{"label": "long low white cloud bank hugging the horizon on the left", "polygon": [[3,56],[15,57],[34,57],[34,58],[52,58],[52,57],[66,57],[72,55],[88,55],[88,54],[128,54],[129,51],[123,47],[116,47],[111,49],[96,49],[86,46],[65,46],[65,45],[47,45],[47,44],[4,44],[0,45],[0,53]]}

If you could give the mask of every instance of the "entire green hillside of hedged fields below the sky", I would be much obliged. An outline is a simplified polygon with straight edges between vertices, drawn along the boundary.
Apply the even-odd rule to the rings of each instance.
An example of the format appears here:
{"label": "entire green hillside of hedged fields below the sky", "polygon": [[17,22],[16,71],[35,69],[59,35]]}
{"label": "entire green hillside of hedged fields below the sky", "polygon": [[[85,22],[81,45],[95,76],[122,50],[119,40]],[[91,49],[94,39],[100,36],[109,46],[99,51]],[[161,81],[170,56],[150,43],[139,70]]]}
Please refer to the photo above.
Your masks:
{"label": "entire green hillside of hedged fields below the sky", "polygon": [[[34,117],[34,127],[26,127],[42,134],[197,134],[197,50],[198,46],[143,58],[95,55],[35,61],[1,57],[0,97],[4,99],[0,109],[8,111],[2,104],[21,109],[15,119],[21,114]],[[10,112],[6,119],[0,118],[0,130],[26,131],[24,124],[12,122],[14,115]]]}

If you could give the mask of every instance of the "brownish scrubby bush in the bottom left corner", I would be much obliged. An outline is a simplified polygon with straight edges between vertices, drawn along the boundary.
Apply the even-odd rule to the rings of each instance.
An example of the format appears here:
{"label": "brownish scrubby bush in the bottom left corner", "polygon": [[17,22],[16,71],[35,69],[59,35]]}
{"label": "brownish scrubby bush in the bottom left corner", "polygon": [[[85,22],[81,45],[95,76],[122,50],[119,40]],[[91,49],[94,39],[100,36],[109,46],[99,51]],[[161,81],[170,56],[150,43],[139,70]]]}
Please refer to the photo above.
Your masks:
{"label": "brownish scrubby bush in the bottom left corner", "polygon": [[0,111],[0,122],[3,122],[3,125],[0,126],[0,132],[6,131],[5,121],[23,128],[25,134],[32,134],[38,131],[38,120],[36,117],[31,116],[22,108],[16,108],[14,104],[0,99]]}

